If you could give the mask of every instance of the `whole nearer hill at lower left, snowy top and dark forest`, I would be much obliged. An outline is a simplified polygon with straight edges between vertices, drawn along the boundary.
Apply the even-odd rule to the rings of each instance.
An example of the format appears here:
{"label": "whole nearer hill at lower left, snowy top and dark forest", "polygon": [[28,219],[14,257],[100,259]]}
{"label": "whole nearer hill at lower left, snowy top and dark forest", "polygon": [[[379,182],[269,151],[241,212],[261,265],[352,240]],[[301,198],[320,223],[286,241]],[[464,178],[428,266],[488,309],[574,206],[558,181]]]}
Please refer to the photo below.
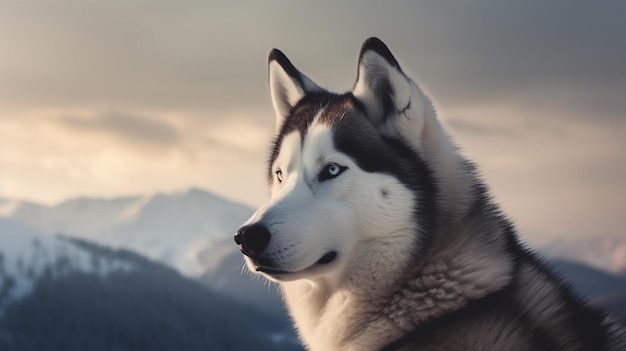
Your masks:
{"label": "whole nearer hill at lower left, snowy top and dark forest", "polygon": [[302,348],[287,319],[164,264],[0,218],[0,350],[49,349]]}

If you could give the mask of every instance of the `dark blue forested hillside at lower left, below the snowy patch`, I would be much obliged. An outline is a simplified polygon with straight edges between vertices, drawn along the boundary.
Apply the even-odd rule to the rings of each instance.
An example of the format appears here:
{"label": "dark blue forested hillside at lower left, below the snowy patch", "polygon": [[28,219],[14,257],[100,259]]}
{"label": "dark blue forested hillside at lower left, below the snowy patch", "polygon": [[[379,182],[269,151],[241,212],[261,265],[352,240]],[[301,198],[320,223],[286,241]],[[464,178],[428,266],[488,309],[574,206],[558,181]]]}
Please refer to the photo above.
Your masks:
{"label": "dark blue forested hillside at lower left, below the snowy patch", "polygon": [[59,276],[59,267],[47,268],[32,293],[4,311],[0,350],[300,349],[286,320],[272,319],[129,251],[72,241],[135,269],[103,277],[86,272]]}

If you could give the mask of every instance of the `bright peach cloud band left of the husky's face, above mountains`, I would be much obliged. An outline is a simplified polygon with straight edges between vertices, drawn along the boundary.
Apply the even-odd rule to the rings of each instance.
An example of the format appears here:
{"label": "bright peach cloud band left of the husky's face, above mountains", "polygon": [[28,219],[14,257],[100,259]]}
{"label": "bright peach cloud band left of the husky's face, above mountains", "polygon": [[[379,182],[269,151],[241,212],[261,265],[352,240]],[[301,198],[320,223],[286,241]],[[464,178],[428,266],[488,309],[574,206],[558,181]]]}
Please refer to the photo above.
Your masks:
{"label": "bright peach cloud band left of the husky's face, above mountains", "polygon": [[37,110],[0,118],[1,196],[53,203],[199,186],[248,204],[264,197],[269,141],[259,135],[271,129],[237,118],[140,115],[148,114]]}

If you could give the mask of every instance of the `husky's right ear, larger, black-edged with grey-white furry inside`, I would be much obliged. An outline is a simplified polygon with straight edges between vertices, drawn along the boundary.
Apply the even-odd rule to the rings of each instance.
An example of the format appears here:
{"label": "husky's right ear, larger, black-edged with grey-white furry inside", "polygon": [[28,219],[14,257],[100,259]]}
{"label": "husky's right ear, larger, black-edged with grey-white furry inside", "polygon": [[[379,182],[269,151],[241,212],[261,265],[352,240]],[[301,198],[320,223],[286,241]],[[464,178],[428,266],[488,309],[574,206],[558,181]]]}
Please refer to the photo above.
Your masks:
{"label": "husky's right ear, larger, black-edged with grey-white furry inside", "polygon": [[401,135],[419,147],[425,119],[434,109],[378,38],[363,43],[352,94],[365,106],[368,119],[381,134]]}

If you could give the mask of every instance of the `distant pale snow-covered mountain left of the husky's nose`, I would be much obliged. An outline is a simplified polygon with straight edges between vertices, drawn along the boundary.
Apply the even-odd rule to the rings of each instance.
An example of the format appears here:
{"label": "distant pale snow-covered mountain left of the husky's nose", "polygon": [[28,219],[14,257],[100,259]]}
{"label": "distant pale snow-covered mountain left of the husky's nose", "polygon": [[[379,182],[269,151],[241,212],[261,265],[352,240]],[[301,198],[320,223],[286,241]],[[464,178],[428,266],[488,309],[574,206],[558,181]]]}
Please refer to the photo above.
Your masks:
{"label": "distant pale snow-covered mountain left of the husky's nose", "polygon": [[174,194],[78,198],[56,206],[0,200],[0,217],[131,249],[199,276],[236,250],[232,235],[252,210],[200,189]]}

